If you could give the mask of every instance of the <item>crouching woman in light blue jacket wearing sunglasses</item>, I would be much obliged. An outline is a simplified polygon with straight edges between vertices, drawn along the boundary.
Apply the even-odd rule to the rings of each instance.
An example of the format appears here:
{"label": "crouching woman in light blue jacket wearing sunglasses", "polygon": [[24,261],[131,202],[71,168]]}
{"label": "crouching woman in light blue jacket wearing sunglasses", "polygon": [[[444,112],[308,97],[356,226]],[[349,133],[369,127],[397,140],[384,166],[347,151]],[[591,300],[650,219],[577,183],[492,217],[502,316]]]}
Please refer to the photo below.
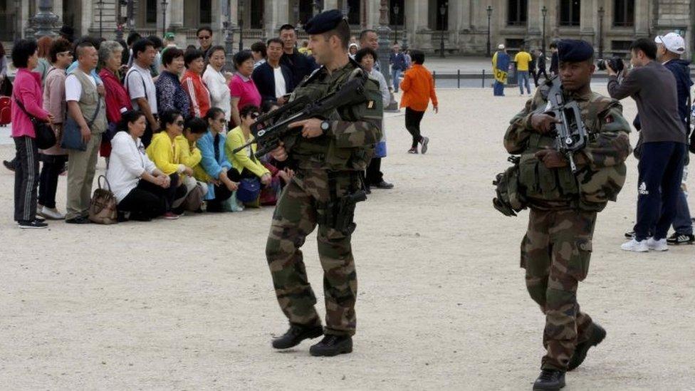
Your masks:
{"label": "crouching woman in light blue jacket wearing sunglasses", "polygon": [[239,173],[232,169],[224,153],[224,111],[221,108],[211,108],[205,119],[209,128],[197,142],[202,160],[194,172],[196,179],[207,183],[207,212],[223,212],[222,203],[229,199],[238,187],[236,182],[239,182]]}

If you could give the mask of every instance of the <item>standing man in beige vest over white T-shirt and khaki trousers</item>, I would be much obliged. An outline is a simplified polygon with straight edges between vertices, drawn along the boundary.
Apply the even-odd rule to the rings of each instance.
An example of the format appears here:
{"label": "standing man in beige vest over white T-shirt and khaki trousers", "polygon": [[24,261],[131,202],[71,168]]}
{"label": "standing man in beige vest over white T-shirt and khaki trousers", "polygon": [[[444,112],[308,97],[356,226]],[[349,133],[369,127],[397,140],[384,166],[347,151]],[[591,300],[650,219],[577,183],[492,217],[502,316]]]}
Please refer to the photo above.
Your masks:
{"label": "standing man in beige vest over white T-shirt and khaki trousers", "polygon": [[97,91],[91,74],[97,66],[98,53],[89,42],[75,48],[78,67],[66,78],[68,115],[80,126],[87,150],[68,150],[68,205],[66,223],[88,224],[92,181],[97,165],[101,135],[106,130],[106,104]]}

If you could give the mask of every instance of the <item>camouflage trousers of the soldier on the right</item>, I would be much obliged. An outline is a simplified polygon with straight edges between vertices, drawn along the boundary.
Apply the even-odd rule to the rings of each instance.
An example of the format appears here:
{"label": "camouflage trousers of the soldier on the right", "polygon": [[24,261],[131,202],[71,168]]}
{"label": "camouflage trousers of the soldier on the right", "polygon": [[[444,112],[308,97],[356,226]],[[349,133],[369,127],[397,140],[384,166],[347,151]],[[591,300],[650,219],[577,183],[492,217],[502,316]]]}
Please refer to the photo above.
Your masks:
{"label": "camouflage trousers of the soldier on the right", "polygon": [[590,337],[592,320],[577,303],[589,269],[596,212],[531,209],[521,241],[526,288],[545,314],[541,367],[566,370],[575,346]]}

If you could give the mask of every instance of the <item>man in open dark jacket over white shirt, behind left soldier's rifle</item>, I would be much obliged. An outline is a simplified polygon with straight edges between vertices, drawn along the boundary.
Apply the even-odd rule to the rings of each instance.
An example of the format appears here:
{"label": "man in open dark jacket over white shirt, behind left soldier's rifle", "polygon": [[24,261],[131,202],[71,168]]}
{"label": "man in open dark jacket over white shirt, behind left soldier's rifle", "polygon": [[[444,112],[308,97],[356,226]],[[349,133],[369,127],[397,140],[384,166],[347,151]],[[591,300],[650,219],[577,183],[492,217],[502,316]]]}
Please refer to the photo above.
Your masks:
{"label": "man in open dark jacket over white shirt, behind left soldier's rifle", "polygon": [[268,39],[266,62],[254,69],[254,73],[251,74],[263,102],[270,100],[283,105],[285,95],[294,90],[292,71],[280,63],[282,56],[283,41],[280,38]]}

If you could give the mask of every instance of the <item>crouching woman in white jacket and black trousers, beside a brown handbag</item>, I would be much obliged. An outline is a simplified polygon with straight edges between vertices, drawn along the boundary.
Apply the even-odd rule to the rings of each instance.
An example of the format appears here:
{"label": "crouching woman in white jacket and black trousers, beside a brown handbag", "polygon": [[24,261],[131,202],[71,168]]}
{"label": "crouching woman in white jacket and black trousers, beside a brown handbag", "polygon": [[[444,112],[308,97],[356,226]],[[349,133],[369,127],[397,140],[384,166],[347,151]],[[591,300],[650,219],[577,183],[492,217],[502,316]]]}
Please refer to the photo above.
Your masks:
{"label": "crouching woman in white jacket and black trousers, beside a brown handbag", "polygon": [[123,113],[118,127],[111,140],[106,179],[118,202],[118,212],[130,212],[132,220],[150,221],[167,211],[171,179],[145,153],[140,137],[147,121],[142,112]]}

